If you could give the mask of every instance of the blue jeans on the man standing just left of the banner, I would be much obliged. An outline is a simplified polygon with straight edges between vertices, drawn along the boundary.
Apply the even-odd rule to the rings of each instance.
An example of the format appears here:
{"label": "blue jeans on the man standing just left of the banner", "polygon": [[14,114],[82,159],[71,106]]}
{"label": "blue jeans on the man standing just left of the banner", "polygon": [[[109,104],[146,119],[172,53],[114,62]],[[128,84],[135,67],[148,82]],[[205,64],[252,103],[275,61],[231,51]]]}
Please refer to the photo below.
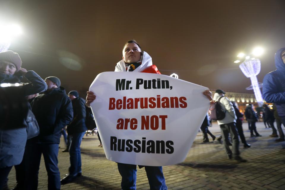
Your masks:
{"label": "blue jeans on the man standing just left of the banner", "polygon": [[72,134],[71,144],[69,148],[69,175],[75,176],[81,171],[81,153],[80,144],[85,132]]}

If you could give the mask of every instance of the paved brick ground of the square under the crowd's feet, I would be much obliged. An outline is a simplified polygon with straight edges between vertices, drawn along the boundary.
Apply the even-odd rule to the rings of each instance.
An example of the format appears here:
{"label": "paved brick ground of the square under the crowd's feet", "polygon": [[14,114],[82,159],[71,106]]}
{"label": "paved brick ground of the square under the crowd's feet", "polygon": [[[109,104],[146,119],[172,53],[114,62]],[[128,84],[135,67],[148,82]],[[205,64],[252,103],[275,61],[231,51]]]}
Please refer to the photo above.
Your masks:
{"label": "paved brick ground of the square under the crowd's feet", "polygon": [[[219,126],[209,128],[217,137]],[[199,132],[187,158],[177,165],[163,167],[168,189],[285,189],[285,142],[276,143],[269,137],[271,128],[265,129],[257,123],[257,131],[262,137],[250,137],[247,123],[244,134],[251,148],[240,145],[241,156],[246,163],[227,159],[223,145],[217,141],[202,143]],[[285,131],[284,131],[285,132]],[[62,139],[61,139],[62,140]],[[83,176],[75,183],[61,186],[61,189],[120,189],[120,174],[117,164],[106,159],[103,148],[98,147],[96,135],[84,137],[81,144]],[[61,147],[65,145],[60,144]],[[69,154],[58,154],[61,178],[68,173]],[[14,168],[9,174],[9,188],[16,184]],[[39,189],[47,189],[47,173],[42,159],[39,171]],[[144,169],[138,169],[137,189],[149,189]]]}

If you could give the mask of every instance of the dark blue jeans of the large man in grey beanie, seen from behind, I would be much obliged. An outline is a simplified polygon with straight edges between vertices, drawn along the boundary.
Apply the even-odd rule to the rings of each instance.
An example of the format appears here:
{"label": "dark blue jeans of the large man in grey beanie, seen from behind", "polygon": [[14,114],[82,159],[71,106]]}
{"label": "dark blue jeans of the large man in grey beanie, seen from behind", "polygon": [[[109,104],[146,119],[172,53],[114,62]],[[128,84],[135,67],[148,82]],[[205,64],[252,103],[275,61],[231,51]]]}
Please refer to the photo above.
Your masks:
{"label": "dark blue jeans of the large man in grey beanie, seen from behind", "polygon": [[45,168],[47,170],[47,189],[60,189],[60,173],[58,169],[58,144],[27,143],[24,153],[26,170],[27,189],[36,190],[38,187],[39,165],[42,154],[45,159]]}

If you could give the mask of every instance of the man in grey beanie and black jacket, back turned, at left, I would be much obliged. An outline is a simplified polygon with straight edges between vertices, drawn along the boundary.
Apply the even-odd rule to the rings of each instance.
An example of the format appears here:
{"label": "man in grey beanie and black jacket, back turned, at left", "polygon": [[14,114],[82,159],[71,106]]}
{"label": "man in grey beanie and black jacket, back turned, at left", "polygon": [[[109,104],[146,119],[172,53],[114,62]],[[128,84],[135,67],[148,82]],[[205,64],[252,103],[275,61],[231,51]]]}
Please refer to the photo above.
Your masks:
{"label": "man in grey beanie and black jacket, back turned, at left", "polygon": [[58,169],[58,145],[60,132],[73,118],[72,104],[58,77],[47,77],[47,91],[31,102],[32,111],[38,121],[40,134],[27,141],[24,157],[27,158],[26,189],[37,189],[41,156],[45,159],[48,189],[60,189]]}

